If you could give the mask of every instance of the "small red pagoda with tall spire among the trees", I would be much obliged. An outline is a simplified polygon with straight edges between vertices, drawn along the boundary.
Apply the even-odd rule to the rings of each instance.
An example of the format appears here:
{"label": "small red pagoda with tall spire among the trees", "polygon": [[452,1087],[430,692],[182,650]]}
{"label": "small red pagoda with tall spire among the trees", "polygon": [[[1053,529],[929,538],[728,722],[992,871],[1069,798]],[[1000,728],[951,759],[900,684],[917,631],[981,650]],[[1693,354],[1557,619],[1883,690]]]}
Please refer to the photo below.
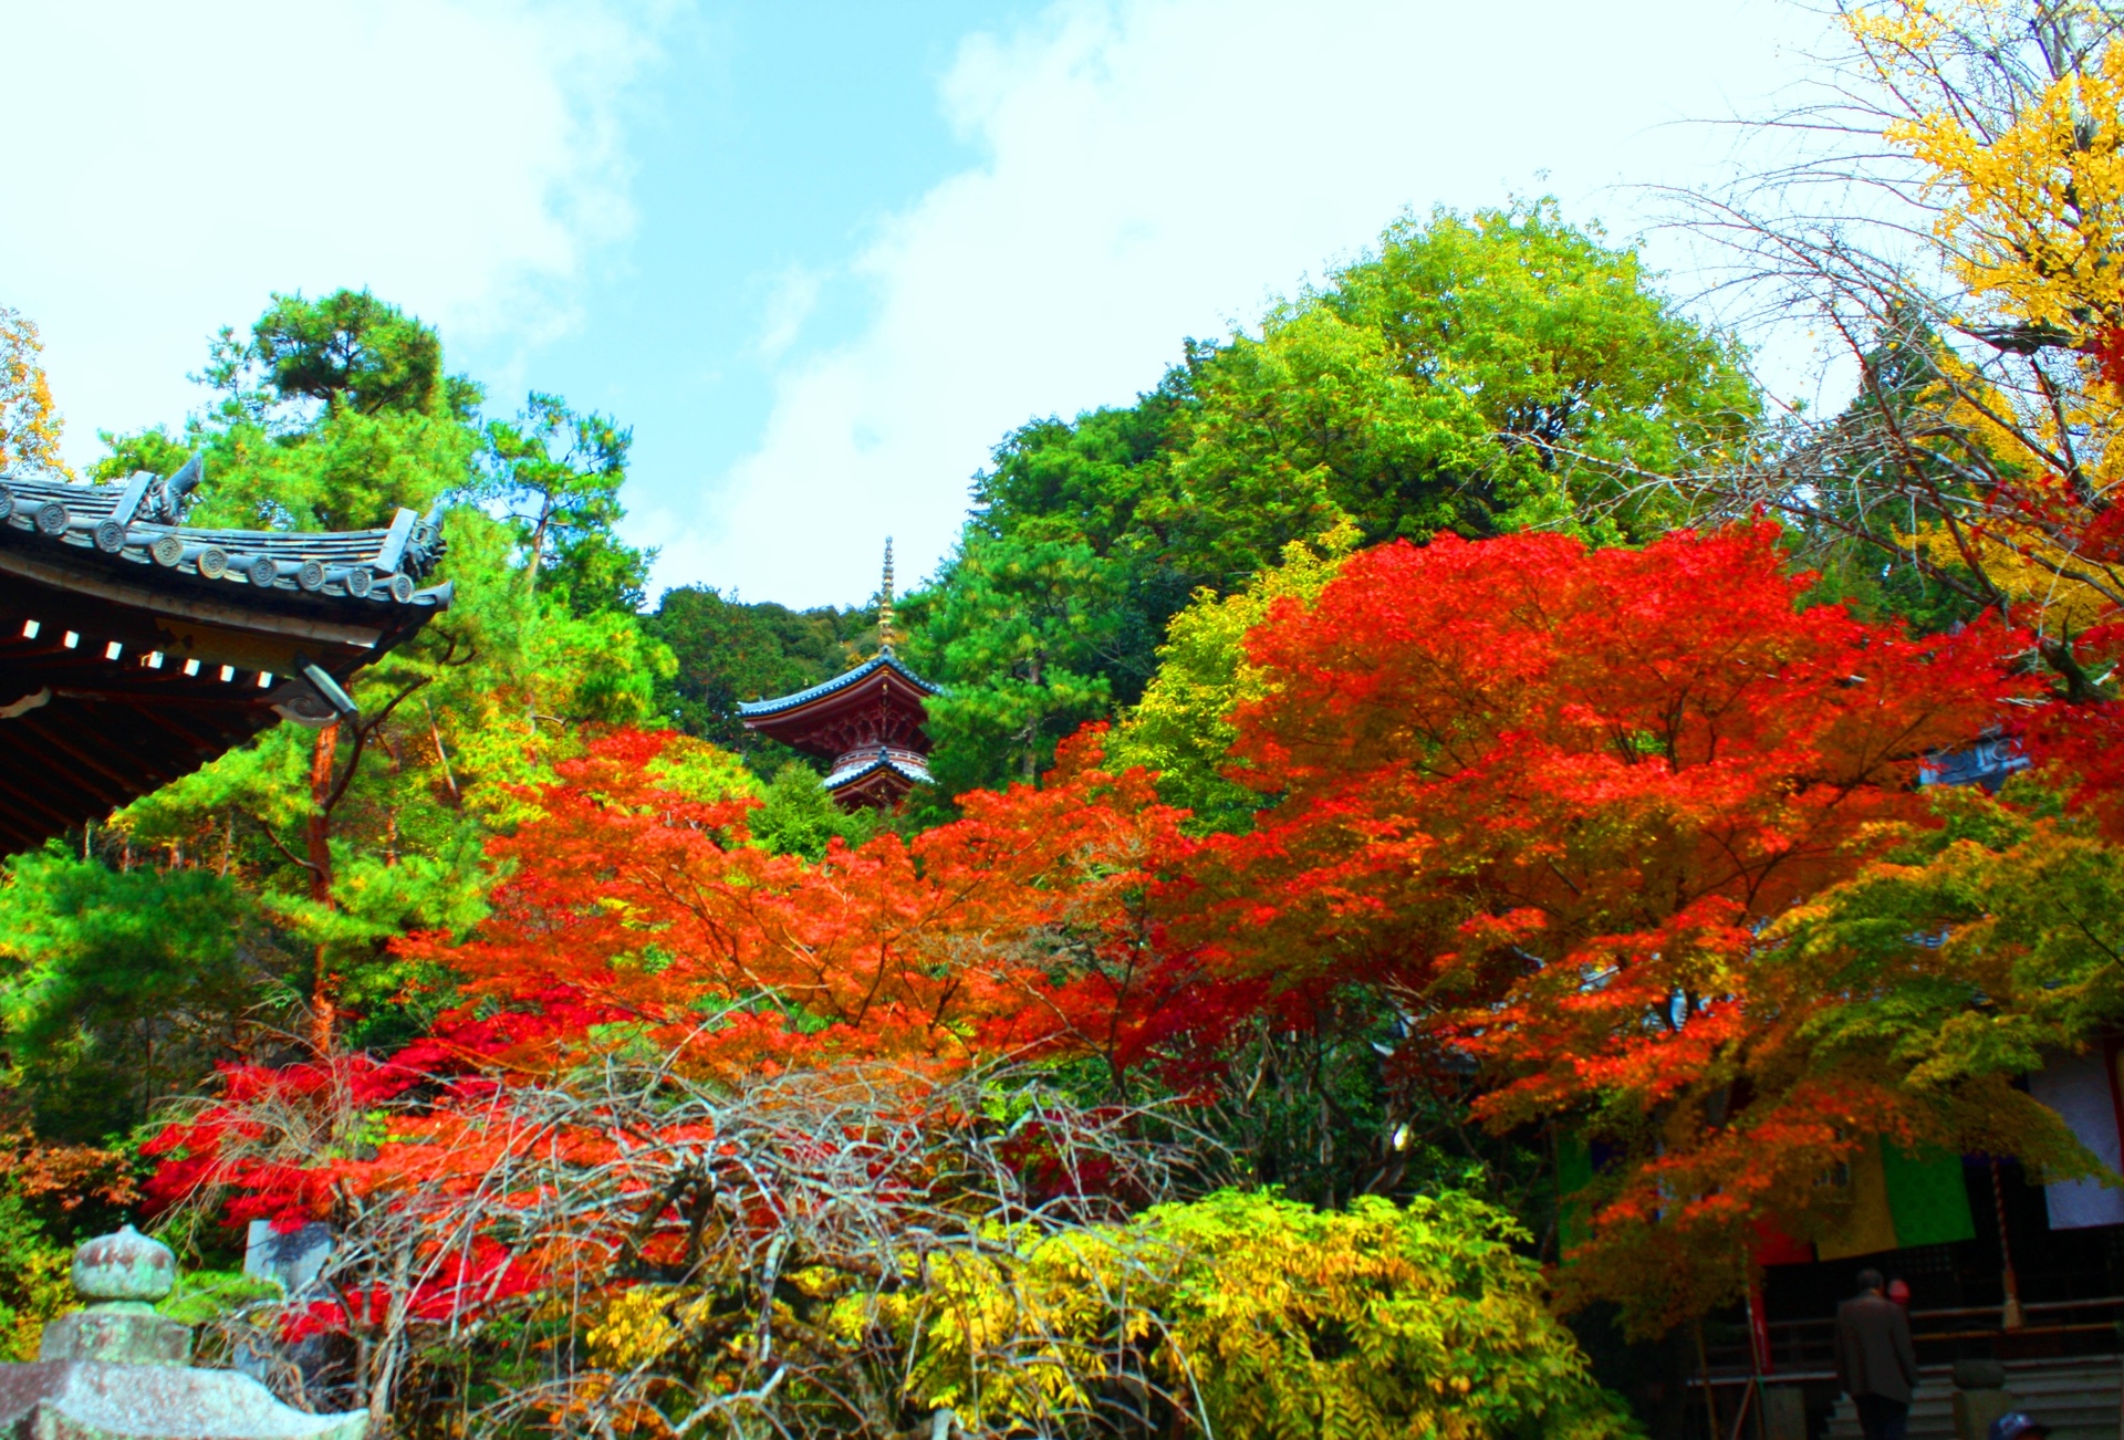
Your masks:
{"label": "small red pagoda with tall spire among the trees", "polygon": [[748,731],[830,760],[826,792],[841,809],[892,809],[930,784],[924,701],[943,695],[892,654],[892,542],[877,603],[877,654],[833,680],[737,707]]}

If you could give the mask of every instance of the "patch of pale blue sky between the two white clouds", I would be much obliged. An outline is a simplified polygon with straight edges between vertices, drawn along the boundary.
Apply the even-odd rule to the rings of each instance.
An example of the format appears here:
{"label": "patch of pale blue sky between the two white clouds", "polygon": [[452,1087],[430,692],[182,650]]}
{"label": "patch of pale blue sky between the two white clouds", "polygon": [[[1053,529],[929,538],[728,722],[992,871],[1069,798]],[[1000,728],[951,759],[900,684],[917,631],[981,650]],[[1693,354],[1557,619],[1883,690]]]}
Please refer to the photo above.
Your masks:
{"label": "patch of pale blue sky between the two white clouds", "polygon": [[[850,344],[871,319],[871,287],[841,261],[896,206],[979,161],[937,102],[960,40],[1037,11],[794,0],[675,13],[624,100],[635,227],[586,276],[582,327],[529,353],[497,336],[467,348],[467,363],[633,421],[641,488],[729,472],[771,412],[773,359]],[[743,588],[847,599],[875,582],[869,567],[788,588],[748,576]],[[731,584],[665,569],[667,584]]]}

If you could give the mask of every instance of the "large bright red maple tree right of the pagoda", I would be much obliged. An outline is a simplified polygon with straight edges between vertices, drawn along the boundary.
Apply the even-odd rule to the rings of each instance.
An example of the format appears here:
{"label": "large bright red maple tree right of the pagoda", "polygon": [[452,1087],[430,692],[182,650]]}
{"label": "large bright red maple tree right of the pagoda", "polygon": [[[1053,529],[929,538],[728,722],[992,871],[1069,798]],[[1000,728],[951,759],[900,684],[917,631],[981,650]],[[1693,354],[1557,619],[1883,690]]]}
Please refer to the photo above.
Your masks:
{"label": "large bright red maple tree right of the pagoda", "polygon": [[[1839,1002],[1759,930],[1929,824],[1924,756],[2024,686],[2001,629],[1916,639],[1801,607],[1774,527],[1589,552],[1559,535],[1353,556],[1249,637],[1268,699],[1179,935],[1283,988],[1370,983],[1476,1060],[1476,1113],[1614,1151],[1576,1281],[1699,1313],[1748,1223],[1861,1136],[1933,1124],[1892,1068],[1808,1051]],[[1657,1327],[1657,1325],[1655,1325]]]}

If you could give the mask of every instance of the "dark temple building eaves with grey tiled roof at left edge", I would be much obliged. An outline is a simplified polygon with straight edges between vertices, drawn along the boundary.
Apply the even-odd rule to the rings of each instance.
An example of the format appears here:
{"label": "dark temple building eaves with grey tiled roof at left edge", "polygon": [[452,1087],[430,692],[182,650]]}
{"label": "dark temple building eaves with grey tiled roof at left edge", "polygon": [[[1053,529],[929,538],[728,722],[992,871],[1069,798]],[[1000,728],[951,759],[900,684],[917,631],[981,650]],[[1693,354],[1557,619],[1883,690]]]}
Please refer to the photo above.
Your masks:
{"label": "dark temple building eaves with grey tiled roof at left edge", "polygon": [[0,854],[100,820],[259,731],[355,716],[344,682],[448,607],[440,516],[191,529],[204,474],[0,474]]}

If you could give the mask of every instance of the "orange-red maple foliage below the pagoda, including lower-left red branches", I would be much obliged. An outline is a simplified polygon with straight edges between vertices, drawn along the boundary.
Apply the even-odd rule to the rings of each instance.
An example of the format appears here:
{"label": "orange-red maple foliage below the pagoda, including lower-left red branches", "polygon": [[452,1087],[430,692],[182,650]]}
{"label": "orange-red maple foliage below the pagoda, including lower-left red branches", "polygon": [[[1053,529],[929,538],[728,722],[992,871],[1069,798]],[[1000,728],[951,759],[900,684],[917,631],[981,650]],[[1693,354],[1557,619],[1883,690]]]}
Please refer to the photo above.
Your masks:
{"label": "orange-red maple foliage below the pagoda, including lower-left red branches", "polygon": [[[820,862],[746,843],[754,801],[675,790],[656,769],[673,743],[622,731],[563,762],[493,841],[506,877],[478,930],[401,941],[459,979],[463,1002],[427,1036],[389,1060],[227,1068],[225,1104],[151,1143],[151,1198],[232,1192],[234,1219],[299,1223],[393,1192],[472,1194],[533,1143],[497,1124],[506,1092],[614,1051],[726,1085],[879,1062],[941,1079],[1058,1051],[1119,1073],[1181,985],[1149,920],[1181,811],[1149,775],[1102,771],[1096,731],[1043,786],[969,794],[954,824],[837,841]],[[359,1153],[348,1136],[382,1104],[401,1111],[393,1138]],[[573,1160],[616,1145],[597,1121],[535,1143]]]}

